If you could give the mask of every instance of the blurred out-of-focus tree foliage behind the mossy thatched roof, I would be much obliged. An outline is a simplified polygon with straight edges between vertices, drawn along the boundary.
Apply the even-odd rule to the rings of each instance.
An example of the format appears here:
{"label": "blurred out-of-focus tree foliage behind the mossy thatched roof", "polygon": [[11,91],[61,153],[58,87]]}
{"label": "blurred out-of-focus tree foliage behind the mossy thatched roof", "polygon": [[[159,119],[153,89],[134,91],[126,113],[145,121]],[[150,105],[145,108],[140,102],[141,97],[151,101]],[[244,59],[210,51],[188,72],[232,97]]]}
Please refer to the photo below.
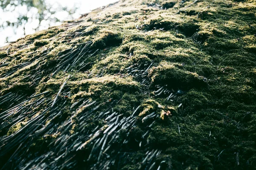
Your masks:
{"label": "blurred out-of-focus tree foliage behind the mossy thatched roof", "polygon": [[[24,7],[26,8],[26,11],[23,11]],[[52,4],[48,3],[47,0],[1,0],[0,10],[1,9],[3,12],[17,12],[19,15],[14,22],[3,20],[3,23],[0,23],[0,28],[5,29],[7,27],[12,27],[15,32],[15,29],[19,26],[23,26],[24,34],[26,34],[26,23],[39,21],[38,26],[35,28],[35,31],[38,31],[43,20],[46,20],[48,25],[49,23],[61,22],[61,20],[54,15],[55,13],[66,11],[70,17],[72,17],[72,14],[75,13],[77,8],[67,8],[61,4],[58,5],[58,8],[55,8]],[[37,11],[37,13],[35,11]]]}

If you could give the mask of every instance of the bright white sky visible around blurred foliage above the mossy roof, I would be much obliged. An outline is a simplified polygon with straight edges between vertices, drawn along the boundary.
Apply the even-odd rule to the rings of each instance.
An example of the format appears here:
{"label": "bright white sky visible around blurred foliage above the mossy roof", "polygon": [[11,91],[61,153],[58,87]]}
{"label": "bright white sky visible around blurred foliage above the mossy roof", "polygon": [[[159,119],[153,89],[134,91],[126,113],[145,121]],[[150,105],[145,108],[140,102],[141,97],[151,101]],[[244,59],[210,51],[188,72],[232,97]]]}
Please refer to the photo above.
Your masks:
{"label": "bright white sky visible around blurred foliage above the mossy roof", "polygon": [[[73,8],[76,6],[78,9],[75,14],[73,14],[73,18],[79,18],[80,14],[84,14],[90,12],[95,8],[99,8],[101,6],[108,5],[109,3],[114,3],[118,0],[46,0],[47,3],[51,4],[52,7],[61,6]],[[3,12],[0,9],[0,25],[2,25],[6,21],[15,22],[16,18],[19,16],[19,13],[26,14],[26,6],[19,6],[15,11],[12,12]],[[29,11],[27,13],[27,17],[33,17],[37,13],[35,11]],[[70,20],[67,12],[57,12],[55,13],[55,17],[60,20]],[[29,20],[29,22],[25,25],[25,32],[27,34],[33,34],[35,32],[35,28],[38,26],[38,20]],[[40,30],[48,28],[48,26],[60,25],[61,23],[49,23],[49,21],[44,20],[42,26],[39,27]],[[6,37],[9,37],[9,41],[15,41],[20,37],[24,37],[23,26],[20,26],[16,29],[16,33],[12,27],[7,27],[5,29],[0,28],[0,46],[6,45]]]}

